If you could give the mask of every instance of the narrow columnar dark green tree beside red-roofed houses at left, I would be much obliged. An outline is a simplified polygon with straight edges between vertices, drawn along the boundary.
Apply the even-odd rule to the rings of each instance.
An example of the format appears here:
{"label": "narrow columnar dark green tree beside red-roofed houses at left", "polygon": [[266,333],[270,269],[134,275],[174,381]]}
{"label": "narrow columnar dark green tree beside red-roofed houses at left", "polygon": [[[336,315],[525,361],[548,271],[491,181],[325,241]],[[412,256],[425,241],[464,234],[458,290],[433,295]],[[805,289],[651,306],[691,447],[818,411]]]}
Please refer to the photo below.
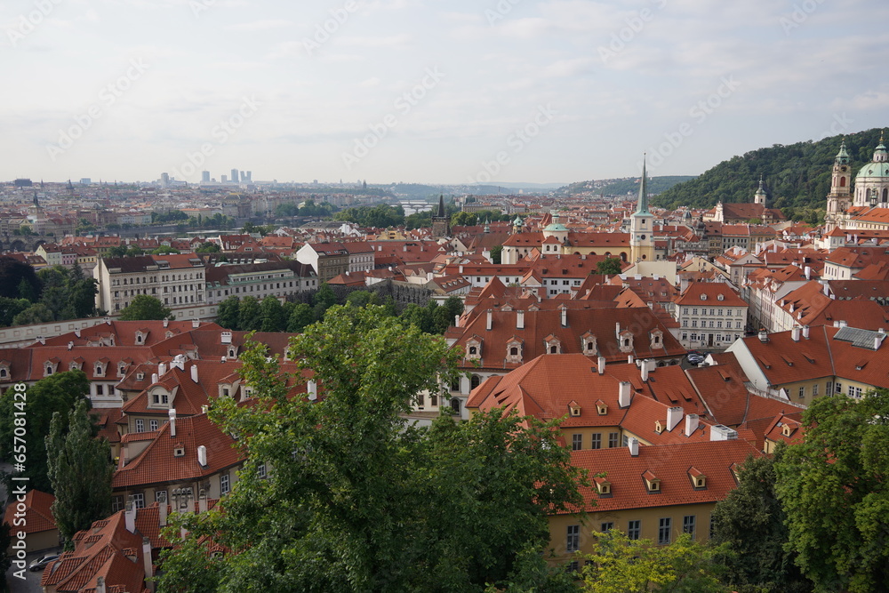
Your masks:
{"label": "narrow columnar dark green tree beside red-roofed houses at left", "polygon": [[81,400],[67,418],[53,413],[46,437],[48,475],[56,497],[52,517],[69,549],[75,533],[111,512],[111,447],[108,440],[95,438],[88,410]]}

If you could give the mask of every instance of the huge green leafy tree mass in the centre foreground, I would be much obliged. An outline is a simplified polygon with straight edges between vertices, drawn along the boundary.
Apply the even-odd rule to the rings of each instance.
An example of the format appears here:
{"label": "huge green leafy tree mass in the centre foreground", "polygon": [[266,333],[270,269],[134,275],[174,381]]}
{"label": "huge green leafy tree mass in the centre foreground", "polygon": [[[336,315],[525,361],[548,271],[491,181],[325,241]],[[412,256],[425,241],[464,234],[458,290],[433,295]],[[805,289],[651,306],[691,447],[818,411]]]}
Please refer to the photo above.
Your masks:
{"label": "huge green leafy tree mass in the centre foreground", "polygon": [[[185,517],[162,590],[566,590],[539,555],[550,505],[581,501],[552,425],[498,413],[432,429],[405,421],[460,355],[380,307],[334,307],[293,339],[292,356],[322,397],[288,399],[276,358],[247,349],[257,405],[220,398],[211,417],[245,436],[249,461],[220,510]],[[235,553],[201,554],[207,537]]]}

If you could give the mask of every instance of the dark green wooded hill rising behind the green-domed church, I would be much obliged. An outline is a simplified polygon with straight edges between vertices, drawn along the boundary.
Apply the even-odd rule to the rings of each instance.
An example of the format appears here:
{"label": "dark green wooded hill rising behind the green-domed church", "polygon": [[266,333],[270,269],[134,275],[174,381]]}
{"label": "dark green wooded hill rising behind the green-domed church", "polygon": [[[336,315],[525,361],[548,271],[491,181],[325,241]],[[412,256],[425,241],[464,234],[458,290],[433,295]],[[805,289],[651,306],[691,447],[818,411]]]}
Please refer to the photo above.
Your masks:
{"label": "dark green wooded hill rising behind the green-domed church", "polygon": [[[880,132],[872,129],[845,136],[853,174],[870,161]],[[843,139],[830,136],[787,146],[775,144],[733,156],[700,177],[653,197],[652,204],[673,209],[680,205],[710,207],[720,200],[752,202],[759,176],[763,175],[770,205],[781,208],[789,217],[794,211],[823,209],[830,190],[830,170]]]}

